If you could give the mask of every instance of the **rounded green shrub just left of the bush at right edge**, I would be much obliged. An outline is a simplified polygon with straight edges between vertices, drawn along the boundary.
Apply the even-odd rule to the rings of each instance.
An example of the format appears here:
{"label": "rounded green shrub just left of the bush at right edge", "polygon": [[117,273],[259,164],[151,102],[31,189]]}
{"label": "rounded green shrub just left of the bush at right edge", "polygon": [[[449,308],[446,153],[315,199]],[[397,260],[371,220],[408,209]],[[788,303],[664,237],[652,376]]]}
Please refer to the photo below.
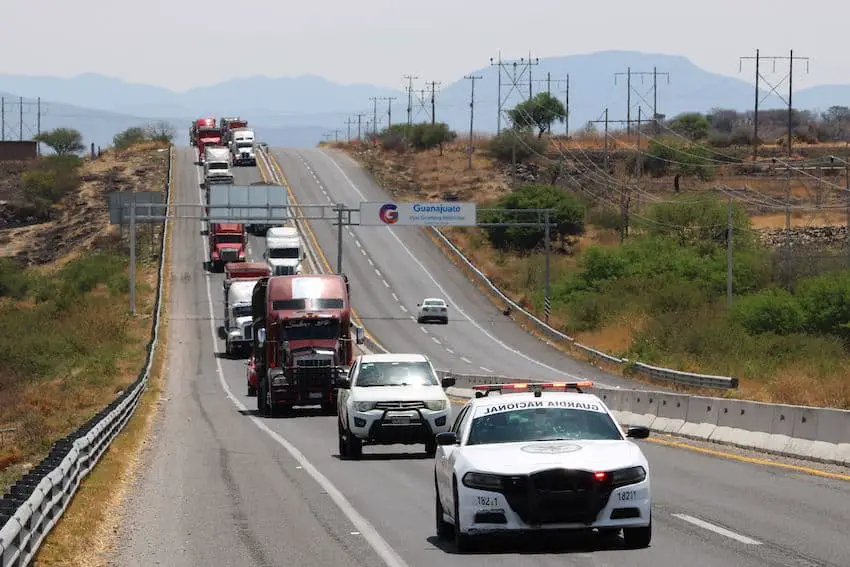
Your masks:
{"label": "rounded green shrub just left of the bush at right edge", "polygon": [[740,298],[732,309],[732,319],[750,334],[789,335],[800,332],[806,314],[797,298],[779,288],[770,288]]}

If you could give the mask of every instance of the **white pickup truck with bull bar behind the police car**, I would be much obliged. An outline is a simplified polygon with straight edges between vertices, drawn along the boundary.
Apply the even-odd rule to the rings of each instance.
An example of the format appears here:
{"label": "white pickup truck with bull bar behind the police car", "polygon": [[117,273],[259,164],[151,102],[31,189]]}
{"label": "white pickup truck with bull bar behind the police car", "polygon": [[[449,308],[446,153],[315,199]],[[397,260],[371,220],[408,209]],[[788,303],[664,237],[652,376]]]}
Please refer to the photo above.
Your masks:
{"label": "white pickup truck with bull bar behind the police car", "polygon": [[359,459],[363,445],[419,444],[433,455],[438,433],[448,431],[451,403],[422,354],[362,354],[337,381],[339,455]]}

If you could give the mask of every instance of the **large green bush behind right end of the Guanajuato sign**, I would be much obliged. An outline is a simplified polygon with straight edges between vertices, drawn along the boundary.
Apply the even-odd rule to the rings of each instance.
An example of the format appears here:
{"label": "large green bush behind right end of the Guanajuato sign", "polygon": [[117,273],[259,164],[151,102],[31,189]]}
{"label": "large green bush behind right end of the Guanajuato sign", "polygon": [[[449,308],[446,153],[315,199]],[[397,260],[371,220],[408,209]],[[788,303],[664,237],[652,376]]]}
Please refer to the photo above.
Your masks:
{"label": "large green bush behind right end of the Guanajuato sign", "polygon": [[[554,185],[526,185],[496,202],[495,210],[482,214],[482,223],[539,222],[539,213],[522,213],[527,209],[553,209],[549,222],[552,240],[564,240],[584,232],[585,205],[575,195]],[[519,210],[508,212],[506,209]],[[528,251],[543,245],[544,228],[541,227],[486,227],[490,242],[500,250]]]}

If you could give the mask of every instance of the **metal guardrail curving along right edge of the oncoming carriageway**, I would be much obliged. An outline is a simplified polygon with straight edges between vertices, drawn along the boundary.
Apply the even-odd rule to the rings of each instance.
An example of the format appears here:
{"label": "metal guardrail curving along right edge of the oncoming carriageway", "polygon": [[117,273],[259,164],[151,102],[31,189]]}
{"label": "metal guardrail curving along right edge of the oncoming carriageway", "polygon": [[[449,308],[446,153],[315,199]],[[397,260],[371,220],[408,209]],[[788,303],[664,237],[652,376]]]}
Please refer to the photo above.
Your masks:
{"label": "metal guardrail curving along right edge of the oncoming carriageway", "polygon": [[555,340],[561,340],[566,343],[569,343],[572,347],[581,350],[585,354],[589,355],[591,359],[603,360],[607,363],[620,366],[627,372],[642,374],[647,378],[668,382],[671,384],[698,388],[714,388],[721,390],[736,389],[738,387],[737,378],[732,378],[729,376],[712,376],[710,374],[696,374],[693,372],[673,370],[671,368],[650,366],[649,364],[644,364],[639,361],[630,361],[625,358],[618,358],[616,356],[604,353],[600,350],[577,342],[573,337],[570,337],[569,335],[562,333],[558,329],[555,329],[554,327],[545,323],[533,313],[530,313],[529,311],[524,309],[516,301],[508,297],[502,290],[500,290],[496,286],[496,284],[490,281],[487,275],[481,270],[479,270],[478,267],[475,266],[475,264],[473,264],[469,260],[469,258],[467,258],[466,255],[461,252],[460,249],[455,246],[454,243],[438,228],[430,227],[430,230],[437,237],[437,239],[439,239],[439,241],[466,267],[466,269],[471,272],[475,278],[479,280],[481,284],[483,284],[492,294],[494,294],[500,300],[505,302],[505,304],[510,306],[512,310],[522,314],[522,316],[525,317],[532,325],[534,325],[538,331],[549,337],[552,337]]}

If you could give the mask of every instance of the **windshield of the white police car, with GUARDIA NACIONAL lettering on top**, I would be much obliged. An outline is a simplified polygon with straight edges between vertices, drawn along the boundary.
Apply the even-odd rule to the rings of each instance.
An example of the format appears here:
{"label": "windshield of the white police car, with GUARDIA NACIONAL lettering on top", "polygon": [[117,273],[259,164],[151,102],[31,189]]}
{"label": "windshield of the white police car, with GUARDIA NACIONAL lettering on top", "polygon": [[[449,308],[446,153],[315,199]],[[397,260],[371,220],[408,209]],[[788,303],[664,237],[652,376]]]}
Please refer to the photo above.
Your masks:
{"label": "windshield of the white police car, with GUARDIA NACIONAL lettering on top", "polygon": [[614,420],[595,403],[534,400],[478,407],[466,444],[622,439]]}

